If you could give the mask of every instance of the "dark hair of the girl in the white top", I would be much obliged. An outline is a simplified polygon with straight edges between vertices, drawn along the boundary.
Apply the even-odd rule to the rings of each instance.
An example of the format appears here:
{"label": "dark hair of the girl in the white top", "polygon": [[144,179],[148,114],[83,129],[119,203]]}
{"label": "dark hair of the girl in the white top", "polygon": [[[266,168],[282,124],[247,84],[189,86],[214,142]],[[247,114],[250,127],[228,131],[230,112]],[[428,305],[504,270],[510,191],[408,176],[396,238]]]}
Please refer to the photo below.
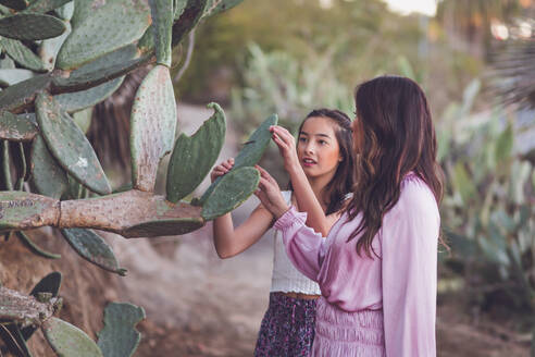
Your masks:
{"label": "dark hair of the girl in the white top", "polygon": [[[336,169],[333,178],[323,190],[323,198],[327,199],[328,202],[325,214],[331,214],[339,211],[344,207],[346,195],[351,192],[354,184],[354,155],[351,138],[351,120],[346,113],[336,109],[314,109],[299,125],[297,132],[298,135],[301,133],[302,126],[309,118],[327,118],[336,124],[334,132],[343,160],[338,163],[338,168]],[[288,184],[288,189],[294,190],[291,182]]]}

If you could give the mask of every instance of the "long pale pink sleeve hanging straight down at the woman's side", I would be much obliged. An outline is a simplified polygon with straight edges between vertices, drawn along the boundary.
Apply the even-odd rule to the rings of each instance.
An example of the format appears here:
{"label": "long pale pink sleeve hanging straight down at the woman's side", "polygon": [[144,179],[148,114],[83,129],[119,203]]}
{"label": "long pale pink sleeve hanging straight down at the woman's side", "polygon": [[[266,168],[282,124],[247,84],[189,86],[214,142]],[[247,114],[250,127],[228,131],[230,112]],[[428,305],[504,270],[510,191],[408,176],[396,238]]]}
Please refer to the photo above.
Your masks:
{"label": "long pale pink sleeve hanging straight down at the woman's side", "polygon": [[439,214],[421,181],[410,181],[381,233],[386,355],[436,356]]}

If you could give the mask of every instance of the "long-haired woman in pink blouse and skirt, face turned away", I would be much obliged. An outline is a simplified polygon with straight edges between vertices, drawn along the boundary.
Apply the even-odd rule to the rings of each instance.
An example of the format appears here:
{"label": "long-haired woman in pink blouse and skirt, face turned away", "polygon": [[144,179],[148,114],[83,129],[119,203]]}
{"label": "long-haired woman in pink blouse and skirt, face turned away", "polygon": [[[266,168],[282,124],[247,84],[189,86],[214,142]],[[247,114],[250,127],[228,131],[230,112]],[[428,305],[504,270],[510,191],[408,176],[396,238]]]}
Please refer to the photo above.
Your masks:
{"label": "long-haired woman in pink blouse and skirt, face turned away", "polygon": [[357,184],[327,239],[264,171],[257,195],[290,260],[319,282],[312,356],[433,357],[443,184],[427,100],[397,76],[361,84],[354,99]]}

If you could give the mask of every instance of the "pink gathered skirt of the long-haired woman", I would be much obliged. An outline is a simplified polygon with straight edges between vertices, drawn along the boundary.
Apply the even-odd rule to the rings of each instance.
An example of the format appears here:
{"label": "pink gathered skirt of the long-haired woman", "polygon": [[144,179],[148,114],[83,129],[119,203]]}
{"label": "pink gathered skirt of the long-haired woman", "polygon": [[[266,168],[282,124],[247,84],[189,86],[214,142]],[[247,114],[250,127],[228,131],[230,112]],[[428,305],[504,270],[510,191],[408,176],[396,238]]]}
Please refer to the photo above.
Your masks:
{"label": "pink gathered skirt of the long-haired woman", "polygon": [[385,357],[383,310],[348,312],[320,297],[313,357]]}

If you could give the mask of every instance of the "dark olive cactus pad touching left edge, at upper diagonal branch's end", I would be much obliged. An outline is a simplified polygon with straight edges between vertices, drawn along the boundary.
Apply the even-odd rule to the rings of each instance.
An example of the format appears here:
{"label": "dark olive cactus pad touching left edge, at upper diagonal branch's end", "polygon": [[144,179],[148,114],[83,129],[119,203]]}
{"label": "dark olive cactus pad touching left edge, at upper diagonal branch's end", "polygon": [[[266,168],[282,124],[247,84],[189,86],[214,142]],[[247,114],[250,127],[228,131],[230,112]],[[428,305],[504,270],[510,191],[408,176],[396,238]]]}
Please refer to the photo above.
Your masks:
{"label": "dark olive cactus pad touching left edge, at upper diagonal branch's end", "polygon": [[22,112],[32,108],[37,93],[47,88],[52,82],[50,74],[41,74],[10,86],[0,91],[0,110]]}

